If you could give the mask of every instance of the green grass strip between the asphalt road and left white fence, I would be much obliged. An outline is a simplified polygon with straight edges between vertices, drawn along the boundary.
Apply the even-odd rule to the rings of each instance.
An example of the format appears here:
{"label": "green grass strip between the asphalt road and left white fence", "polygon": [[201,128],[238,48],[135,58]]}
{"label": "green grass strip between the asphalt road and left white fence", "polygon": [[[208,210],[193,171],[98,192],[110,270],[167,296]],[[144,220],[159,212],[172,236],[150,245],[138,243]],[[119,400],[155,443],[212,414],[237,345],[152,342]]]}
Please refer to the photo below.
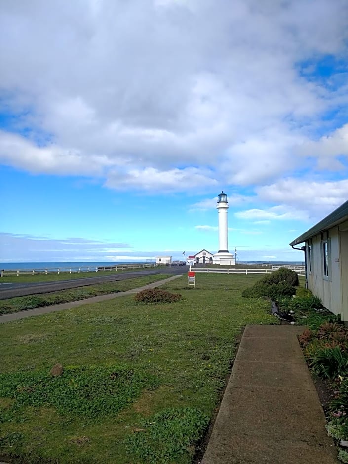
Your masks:
{"label": "green grass strip between the asphalt road and left white fence", "polygon": [[[165,270],[165,266],[161,266],[163,270]],[[38,283],[38,282],[56,282],[59,280],[76,280],[76,279],[85,279],[85,278],[93,278],[93,277],[104,277],[108,275],[118,275],[118,274],[124,274],[126,272],[138,272],[138,271],[146,271],[146,270],[154,270],[157,268],[133,268],[133,269],[118,269],[116,271],[112,270],[106,270],[106,271],[98,271],[98,272],[60,272],[59,274],[57,272],[49,272],[47,274],[40,273],[40,274],[34,274],[32,275],[30,272],[24,274],[20,273],[19,276],[17,277],[16,274],[12,275],[5,275],[4,277],[1,277],[0,282],[1,283]],[[6,274],[6,271],[5,271]]]}

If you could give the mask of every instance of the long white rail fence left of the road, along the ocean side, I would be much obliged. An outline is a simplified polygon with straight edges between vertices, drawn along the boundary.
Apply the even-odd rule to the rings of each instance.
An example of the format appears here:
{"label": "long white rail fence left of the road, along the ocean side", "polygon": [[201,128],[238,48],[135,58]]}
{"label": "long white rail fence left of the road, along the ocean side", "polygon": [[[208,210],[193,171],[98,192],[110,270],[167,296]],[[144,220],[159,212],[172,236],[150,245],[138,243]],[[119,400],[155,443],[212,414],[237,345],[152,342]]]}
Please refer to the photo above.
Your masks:
{"label": "long white rail fence left of the road, along the ocean side", "polygon": [[[1,266],[1,265],[0,265]],[[147,264],[118,264],[115,266],[76,266],[76,267],[60,267],[60,268],[30,268],[30,269],[4,269],[1,270],[2,276],[10,275],[28,275],[28,274],[60,274],[61,272],[66,272],[69,274],[81,272],[106,272],[106,271],[124,271],[125,269],[143,269],[143,268],[153,268],[158,267],[158,264],[147,263]],[[165,266],[165,265],[164,265]]]}

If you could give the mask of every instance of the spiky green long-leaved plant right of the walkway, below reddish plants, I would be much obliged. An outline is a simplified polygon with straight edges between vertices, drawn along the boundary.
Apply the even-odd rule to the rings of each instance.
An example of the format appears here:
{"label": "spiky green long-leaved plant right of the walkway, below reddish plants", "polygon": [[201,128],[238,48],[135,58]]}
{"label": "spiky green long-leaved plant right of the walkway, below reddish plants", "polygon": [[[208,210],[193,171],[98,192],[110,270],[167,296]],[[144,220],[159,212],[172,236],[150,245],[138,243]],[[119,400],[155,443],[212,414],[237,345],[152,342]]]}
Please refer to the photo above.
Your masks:
{"label": "spiky green long-leaved plant right of the walkway, below reddish plants", "polygon": [[348,353],[338,346],[322,348],[309,357],[309,366],[319,377],[335,379],[348,373]]}

